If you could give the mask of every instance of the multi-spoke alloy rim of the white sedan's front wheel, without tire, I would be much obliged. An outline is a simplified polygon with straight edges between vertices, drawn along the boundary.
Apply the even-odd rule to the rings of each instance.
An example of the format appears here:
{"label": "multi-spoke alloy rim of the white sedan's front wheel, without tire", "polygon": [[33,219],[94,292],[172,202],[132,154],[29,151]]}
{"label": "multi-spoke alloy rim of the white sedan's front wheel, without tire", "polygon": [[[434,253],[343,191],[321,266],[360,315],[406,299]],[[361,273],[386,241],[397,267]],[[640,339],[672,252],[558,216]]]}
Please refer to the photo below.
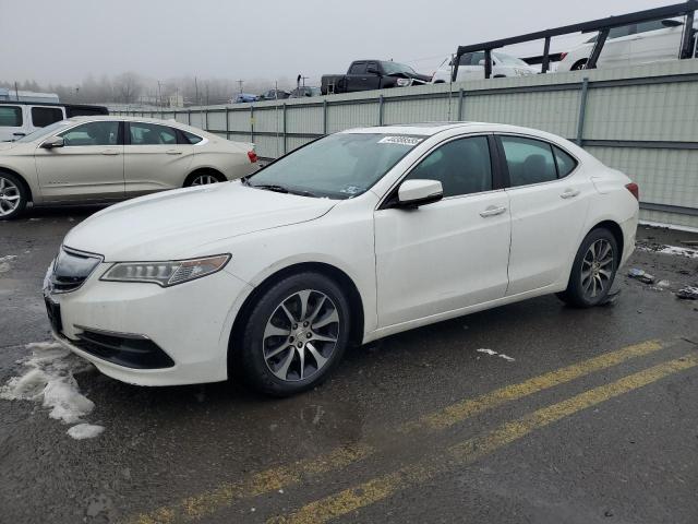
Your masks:
{"label": "multi-spoke alloy rim of the white sedan's front wheel, without tire", "polygon": [[327,365],[339,338],[339,313],[322,291],[303,289],[286,298],[266,323],[262,352],[278,379],[305,380]]}

